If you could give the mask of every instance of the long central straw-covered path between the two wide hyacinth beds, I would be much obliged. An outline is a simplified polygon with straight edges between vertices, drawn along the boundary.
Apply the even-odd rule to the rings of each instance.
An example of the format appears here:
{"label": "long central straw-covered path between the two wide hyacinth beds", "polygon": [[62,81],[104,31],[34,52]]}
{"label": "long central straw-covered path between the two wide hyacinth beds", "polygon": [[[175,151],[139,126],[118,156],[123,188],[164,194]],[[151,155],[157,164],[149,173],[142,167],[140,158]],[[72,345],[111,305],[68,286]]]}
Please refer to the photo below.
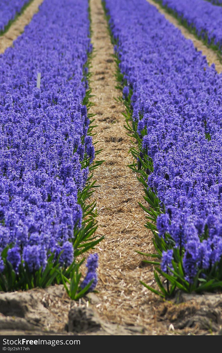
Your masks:
{"label": "long central straw-covered path between the two wide hyacinth beds", "polygon": [[[144,195],[143,187],[128,164],[133,157],[133,146],[123,126],[125,118],[122,103],[115,98],[121,91],[115,88],[116,64],[113,45],[107,29],[100,0],[90,1],[92,43],[94,57],[91,62],[90,87],[95,104],[90,113],[95,115],[98,141],[103,149],[99,158],[105,160],[95,172],[100,188],[94,193],[99,212],[99,235],[105,239],[97,247],[99,253],[99,283],[97,294],[99,314],[119,324],[147,325],[153,318],[150,293],[140,284],[152,282],[152,267],[141,266],[141,256],[135,252],[152,251],[152,235],[144,227],[144,211],[138,205]],[[151,329],[154,329],[152,326]]]}

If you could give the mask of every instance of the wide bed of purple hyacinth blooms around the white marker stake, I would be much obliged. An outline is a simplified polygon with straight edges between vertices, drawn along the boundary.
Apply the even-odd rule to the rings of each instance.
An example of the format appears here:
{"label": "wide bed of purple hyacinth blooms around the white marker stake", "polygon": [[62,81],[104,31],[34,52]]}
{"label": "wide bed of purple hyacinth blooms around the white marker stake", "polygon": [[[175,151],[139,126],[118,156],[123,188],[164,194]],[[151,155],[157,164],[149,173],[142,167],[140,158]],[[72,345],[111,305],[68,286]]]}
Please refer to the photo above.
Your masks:
{"label": "wide bed of purple hyacinth blooms around the white marker stake", "polygon": [[81,162],[94,158],[82,105],[90,51],[88,1],[45,0],[0,55],[0,252],[13,245],[15,270],[22,260],[30,271],[44,268],[50,251],[62,265],[73,260],[77,192],[88,177]]}

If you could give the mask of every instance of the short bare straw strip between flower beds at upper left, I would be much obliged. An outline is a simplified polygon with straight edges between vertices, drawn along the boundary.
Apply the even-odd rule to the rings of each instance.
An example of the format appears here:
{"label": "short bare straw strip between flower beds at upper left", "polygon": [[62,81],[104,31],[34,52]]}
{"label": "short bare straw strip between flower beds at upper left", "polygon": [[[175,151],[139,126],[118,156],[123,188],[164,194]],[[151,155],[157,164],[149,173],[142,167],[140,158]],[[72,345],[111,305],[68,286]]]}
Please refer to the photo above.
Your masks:
{"label": "short bare straw strip between flower beds at upper left", "polygon": [[38,12],[39,5],[43,0],[33,0],[25,11],[12,23],[8,31],[0,36],[0,54],[4,53],[5,49],[12,46],[13,41],[22,34],[25,26],[30,23],[34,13]]}

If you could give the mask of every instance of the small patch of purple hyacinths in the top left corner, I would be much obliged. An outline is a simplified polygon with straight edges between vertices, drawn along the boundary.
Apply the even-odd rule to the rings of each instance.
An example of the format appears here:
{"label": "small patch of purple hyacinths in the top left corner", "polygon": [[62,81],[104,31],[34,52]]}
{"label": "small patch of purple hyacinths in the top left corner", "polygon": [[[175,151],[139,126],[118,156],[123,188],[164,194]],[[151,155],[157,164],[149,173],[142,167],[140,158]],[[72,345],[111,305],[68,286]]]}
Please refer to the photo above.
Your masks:
{"label": "small patch of purple hyacinths in the top left corner", "polygon": [[21,11],[24,5],[30,0],[1,0],[0,2],[0,32],[4,31],[10,20],[13,20],[17,13]]}

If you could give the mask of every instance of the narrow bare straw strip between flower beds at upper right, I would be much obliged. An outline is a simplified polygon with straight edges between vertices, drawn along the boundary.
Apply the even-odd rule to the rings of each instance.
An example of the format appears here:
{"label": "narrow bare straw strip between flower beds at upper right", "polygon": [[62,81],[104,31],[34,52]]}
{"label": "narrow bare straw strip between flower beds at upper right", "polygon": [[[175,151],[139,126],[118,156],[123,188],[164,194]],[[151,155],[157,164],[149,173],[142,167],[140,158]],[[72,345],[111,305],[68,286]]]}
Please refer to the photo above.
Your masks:
{"label": "narrow bare straw strip between flower beds at upper right", "polygon": [[147,0],[147,1],[151,5],[156,6],[158,11],[160,13],[162,13],[169,22],[171,22],[173,25],[175,25],[175,27],[177,27],[182,32],[184,37],[186,37],[187,39],[190,39],[194,43],[195,48],[197,48],[198,51],[201,51],[202,54],[206,56],[206,59],[207,59],[209,66],[214,63],[215,69],[217,70],[217,72],[218,73],[222,72],[221,58],[218,57],[218,54],[216,51],[206,47],[201,40],[198,40],[195,37],[195,35],[190,33],[189,30],[186,29],[185,27],[183,27],[175,17],[170,15],[166,10],[163,9],[163,7],[161,7],[155,1],[153,1],[153,0]]}

